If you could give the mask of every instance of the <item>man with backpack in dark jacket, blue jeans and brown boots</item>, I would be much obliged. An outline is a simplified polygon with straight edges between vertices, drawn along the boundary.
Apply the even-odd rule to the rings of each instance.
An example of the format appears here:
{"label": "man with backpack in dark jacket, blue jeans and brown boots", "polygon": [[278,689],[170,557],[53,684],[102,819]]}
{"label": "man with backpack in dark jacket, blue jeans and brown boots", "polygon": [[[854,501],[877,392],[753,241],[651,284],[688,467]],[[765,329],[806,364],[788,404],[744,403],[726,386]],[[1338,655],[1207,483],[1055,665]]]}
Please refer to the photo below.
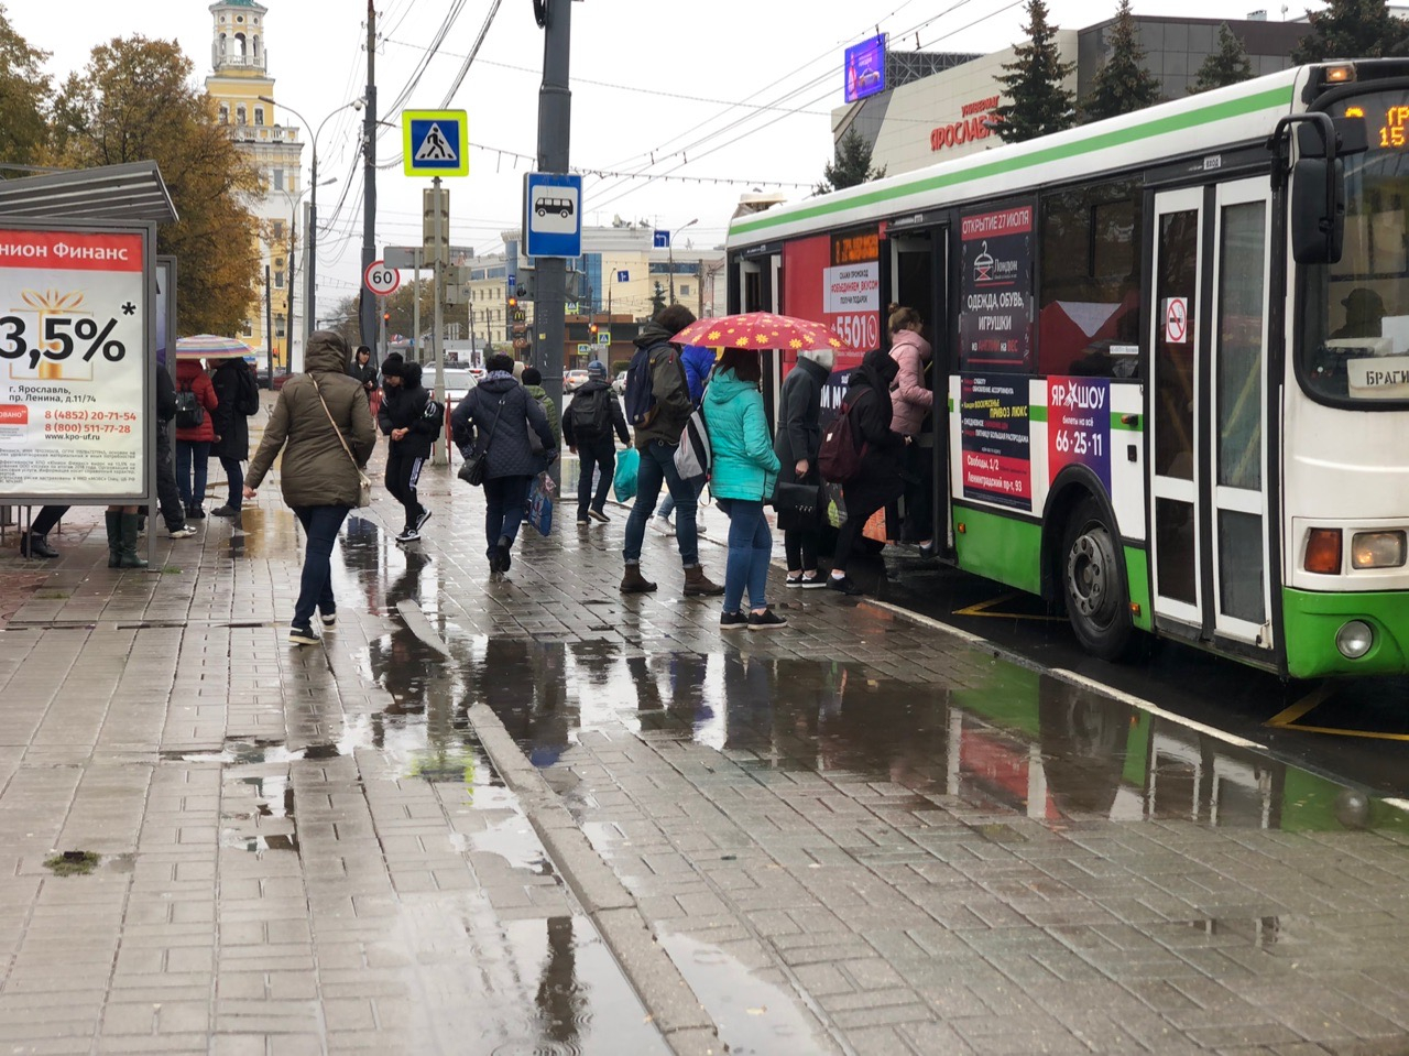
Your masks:
{"label": "man with backpack in dark jacket, blue jeans and brown boots", "polygon": [[661,485],[675,496],[676,537],[681,564],[685,565],[685,596],[719,596],[720,584],[710,582],[700,567],[699,537],[695,527],[695,488],[675,468],[675,450],[681,430],[689,422],[693,405],[685,376],[681,352],[671,337],[695,321],[695,313],[685,305],[668,305],[645,324],[635,338],[637,352],[631,357],[626,381],[626,417],[635,430],[635,447],[641,453],[637,477],[635,505],[626,523],[621,577],[623,594],[655,589],[655,584],[641,575],[641,546],[645,541],[645,522],[655,509]]}

